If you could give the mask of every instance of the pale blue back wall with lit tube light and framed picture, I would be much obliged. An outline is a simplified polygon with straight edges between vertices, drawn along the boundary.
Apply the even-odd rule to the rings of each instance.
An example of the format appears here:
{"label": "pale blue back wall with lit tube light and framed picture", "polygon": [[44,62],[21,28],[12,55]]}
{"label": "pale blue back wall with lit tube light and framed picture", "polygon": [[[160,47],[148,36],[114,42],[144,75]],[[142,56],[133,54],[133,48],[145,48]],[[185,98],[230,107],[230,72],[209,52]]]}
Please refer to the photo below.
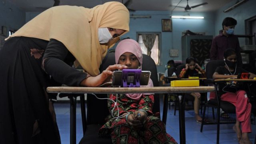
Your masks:
{"label": "pale blue back wall with lit tube light and framed picture", "polygon": [[[26,22],[38,15],[39,12],[26,12]],[[130,32],[122,38],[130,37],[137,40],[136,32],[161,32],[160,61],[157,66],[158,72],[164,72],[164,66],[168,60],[182,60],[181,56],[181,36],[184,30],[192,32],[205,32],[206,35],[214,35],[214,14],[193,13],[190,16],[204,16],[201,20],[192,19],[172,19],[172,32],[162,32],[162,19],[170,18],[169,11],[136,11],[131,12],[134,15],[150,15],[151,18],[130,18]],[[173,13],[173,15],[188,15],[187,12]],[[121,39],[122,39],[121,38]],[[170,49],[178,49],[178,57],[170,57]]]}

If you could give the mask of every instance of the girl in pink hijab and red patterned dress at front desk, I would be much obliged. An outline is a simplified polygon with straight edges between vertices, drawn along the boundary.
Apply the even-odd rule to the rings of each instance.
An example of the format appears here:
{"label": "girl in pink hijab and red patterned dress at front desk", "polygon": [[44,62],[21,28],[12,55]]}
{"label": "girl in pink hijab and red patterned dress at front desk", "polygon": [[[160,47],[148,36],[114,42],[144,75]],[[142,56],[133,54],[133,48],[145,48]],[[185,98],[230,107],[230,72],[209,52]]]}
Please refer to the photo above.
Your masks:
{"label": "girl in pink hijab and red patterned dress at front desk", "polygon": [[[116,64],[125,65],[128,69],[142,68],[142,50],[135,40],[125,39],[119,42],[115,58]],[[151,79],[146,87],[153,87]],[[108,100],[108,108],[111,114],[100,128],[100,136],[111,135],[113,144],[121,141],[126,144],[176,144],[174,138],[166,133],[159,112],[152,113],[154,94],[110,94],[109,98],[111,100]]]}

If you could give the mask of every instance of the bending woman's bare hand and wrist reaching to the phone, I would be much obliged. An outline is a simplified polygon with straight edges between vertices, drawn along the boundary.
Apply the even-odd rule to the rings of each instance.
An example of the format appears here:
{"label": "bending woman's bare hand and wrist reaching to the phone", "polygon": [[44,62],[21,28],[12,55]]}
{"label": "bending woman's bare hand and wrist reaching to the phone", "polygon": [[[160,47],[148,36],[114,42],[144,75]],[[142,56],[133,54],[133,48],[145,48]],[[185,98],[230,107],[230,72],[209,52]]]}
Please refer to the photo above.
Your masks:
{"label": "bending woman's bare hand and wrist reaching to the phone", "polygon": [[121,65],[121,64],[114,64],[111,66],[108,66],[106,70],[104,70],[101,74],[98,76],[90,76],[80,83],[80,86],[90,86],[90,87],[97,87],[100,86],[108,77],[112,76],[113,71],[116,69],[126,69],[127,66]]}

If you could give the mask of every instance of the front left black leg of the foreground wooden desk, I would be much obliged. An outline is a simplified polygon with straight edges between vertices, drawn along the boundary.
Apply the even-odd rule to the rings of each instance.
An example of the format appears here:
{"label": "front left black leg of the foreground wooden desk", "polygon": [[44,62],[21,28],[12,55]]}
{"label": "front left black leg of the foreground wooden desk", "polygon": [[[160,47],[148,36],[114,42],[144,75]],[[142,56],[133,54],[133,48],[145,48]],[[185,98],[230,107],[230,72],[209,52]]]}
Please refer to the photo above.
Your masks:
{"label": "front left black leg of the foreground wooden desk", "polygon": [[70,96],[70,144],[76,144],[76,96]]}

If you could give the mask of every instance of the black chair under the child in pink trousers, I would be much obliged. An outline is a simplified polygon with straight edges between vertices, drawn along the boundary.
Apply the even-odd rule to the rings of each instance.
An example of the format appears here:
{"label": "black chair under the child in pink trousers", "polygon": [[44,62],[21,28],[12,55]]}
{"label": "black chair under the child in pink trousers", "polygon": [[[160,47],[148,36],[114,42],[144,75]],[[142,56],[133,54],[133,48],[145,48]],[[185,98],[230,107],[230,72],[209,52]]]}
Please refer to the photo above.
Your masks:
{"label": "black chair under the child in pink trousers", "polygon": [[[212,60],[212,61],[208,62],[207,65],[206,65],[207,80],[204,81],[206,84],[215,86],[215,88],[216,88],[215,89],[216,97],[214,99],[208,100],[204,104],[204,111],[203,111],[203,117],[202,117],[202,124],[201,124],[200,132],[202,132],[203,126],[205,124],[217,124],[217,144],[219,143],[219,138],[220,138],[220,124],[233,124],[233,123],[236,122],[236,116],[234,116],[234,119],[232,119],[232,117],[230,116],[230,118],[228,118],[226,120],[223,119],[222,121],[220,121],[220,108],[222,108],[222,110],[224,112],[226,112],[227,114],[233,114],[233,115],[236,114],[236,107],[233,104],[231,104],[230,102],[220,100],[220,94],[217,90],[218,83],[214,82],[214,80],[212,79],[212,75],[214,74],[216,68],[218,66],[224,66],[224,65],[225,65],[224,60]],[[212,107],[212,120],[210,120],[208,118],[207,123],[205,122],[206,106],[207,107]],[[214,116],[214,108],[217,108],[217,122],[216,122],[215,116]]]}

